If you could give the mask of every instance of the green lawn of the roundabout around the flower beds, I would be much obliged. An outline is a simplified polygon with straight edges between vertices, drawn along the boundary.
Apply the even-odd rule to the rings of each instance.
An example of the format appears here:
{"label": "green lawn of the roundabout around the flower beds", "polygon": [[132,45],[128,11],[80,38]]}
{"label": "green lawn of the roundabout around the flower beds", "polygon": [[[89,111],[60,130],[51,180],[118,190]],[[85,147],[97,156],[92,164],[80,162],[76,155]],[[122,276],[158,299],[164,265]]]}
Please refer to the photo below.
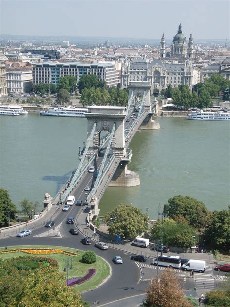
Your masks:
{"label": "green lawn of the roundabout around the flower beds", "polygon": [[[54,258],[58,261],[59,264],[59,271],[64,272],[64,268],[66,268],[66,279],[68,274],[68,279],[71,279],[73,277],[82,277],[86,275],[88,272],[88,269],[96,269],[95,275],[89,279],[88,281],[82,283],[81,285],[77,285],[74,287],[75,290],[78,291],[87,291],[94,289],[95,287],[99,286],[106,278],[110,275],[110,266],[109,264],[104,261],[102,258],[97,256],[97,261],[93,264],[86,264],[82,263],[80,260],[82,259],[82,254],[84,251],[76,250],[69,247],[60,247],[60,246],[47,246],[47,245],[30,245],[30,246],[11,246],[8,247],[7,250],[13,250],[13,249],[19,249],[19,248],[52,248],[52,249],[62,249],[69,252],[74,252],[79,254],[79,256],[68,256],[64,254],[42,254],[42,255],[34,255],[34,254],[27,254],[24,252],[15,252],[15,253],[9,253],[9,254],[1,254],[0,257],[4,259],[9,259],[12,257],[18,257],[18,256],[45,256]],[[4,251],[4,248],[0,248],[0,252]],[[67,270],[67,266],[69,267],[69,270]],[[72,266],[72,269],[70,267]]]}

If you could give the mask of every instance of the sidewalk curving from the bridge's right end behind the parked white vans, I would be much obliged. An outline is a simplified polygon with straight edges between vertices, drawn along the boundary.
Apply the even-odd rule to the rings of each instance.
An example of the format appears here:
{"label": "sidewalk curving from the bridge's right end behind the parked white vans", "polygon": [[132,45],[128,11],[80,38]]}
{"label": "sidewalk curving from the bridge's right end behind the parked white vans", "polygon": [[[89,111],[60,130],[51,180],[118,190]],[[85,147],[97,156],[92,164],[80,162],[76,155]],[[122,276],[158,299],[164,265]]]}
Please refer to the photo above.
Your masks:
{"label": "sidewalk curving from the bridge's right end behind the parked white vans", "polygon": [[[117,244],[110,239],[103,237],[101,234],[97,233],[96,229],[96,234],[94,234],[93,229],[87,228],[87,218],[88,212],[84,212],[83,208],[82,211],[79,211],[79,215],[77,216],[77,227],[79,230],[82,232],[83,235],[90,237],[91,239],[95,241],[103,241],[105,242],[108,246],[116,248],[118,250],[122,250],[124,252],[128,252],[131,254],[140,254],[147,256],[148,258],[156,258],[157,257],[157,252],[152,251],[150,248],[141,248],[138,246],[132,246],[131,242],[129,240],[124,240],[121,241],[121,243]],[[175,253],[175,252],[168,252],[168,253],[163,253],[164,255],[167,256],[180,256],[181,259],[195,259],[195,260],[205,260],[207,263],[217,263],[217,260],[214,259],[213,254],[204,254],[204,253]],[[160,252],[158,253],[160,255]],[[218,261],[221,263],[221,261]]]}

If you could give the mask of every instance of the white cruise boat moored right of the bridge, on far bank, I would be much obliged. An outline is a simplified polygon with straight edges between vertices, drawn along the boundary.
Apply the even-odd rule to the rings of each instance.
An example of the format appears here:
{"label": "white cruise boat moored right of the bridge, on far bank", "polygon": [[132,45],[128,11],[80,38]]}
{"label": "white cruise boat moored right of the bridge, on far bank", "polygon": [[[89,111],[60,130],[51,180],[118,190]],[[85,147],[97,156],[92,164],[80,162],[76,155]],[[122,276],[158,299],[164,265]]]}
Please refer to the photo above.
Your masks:
{"label": "white cruise boat moored right of the bridge, on far bank", "polygon": [[221,111],[207,112],[203,110],[198,110],[189,113],[187,119],[230,121],[230,112],[221,112]]}

